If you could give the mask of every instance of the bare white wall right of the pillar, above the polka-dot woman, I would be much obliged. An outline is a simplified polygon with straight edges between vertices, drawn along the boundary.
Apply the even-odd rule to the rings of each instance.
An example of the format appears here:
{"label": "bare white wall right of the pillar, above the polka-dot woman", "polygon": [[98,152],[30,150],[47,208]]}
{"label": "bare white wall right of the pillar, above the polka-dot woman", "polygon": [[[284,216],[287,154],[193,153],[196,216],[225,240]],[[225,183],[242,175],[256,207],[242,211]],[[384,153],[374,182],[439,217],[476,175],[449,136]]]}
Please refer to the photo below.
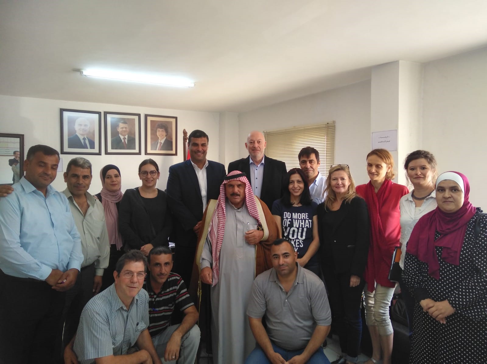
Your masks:
{"label": "bare white wall right of the pillar, above the polka-dot woman", "polygon": [[487,48],[424,67],[423,148],[439,172],[462,172],[470,201],[487,210]]}

